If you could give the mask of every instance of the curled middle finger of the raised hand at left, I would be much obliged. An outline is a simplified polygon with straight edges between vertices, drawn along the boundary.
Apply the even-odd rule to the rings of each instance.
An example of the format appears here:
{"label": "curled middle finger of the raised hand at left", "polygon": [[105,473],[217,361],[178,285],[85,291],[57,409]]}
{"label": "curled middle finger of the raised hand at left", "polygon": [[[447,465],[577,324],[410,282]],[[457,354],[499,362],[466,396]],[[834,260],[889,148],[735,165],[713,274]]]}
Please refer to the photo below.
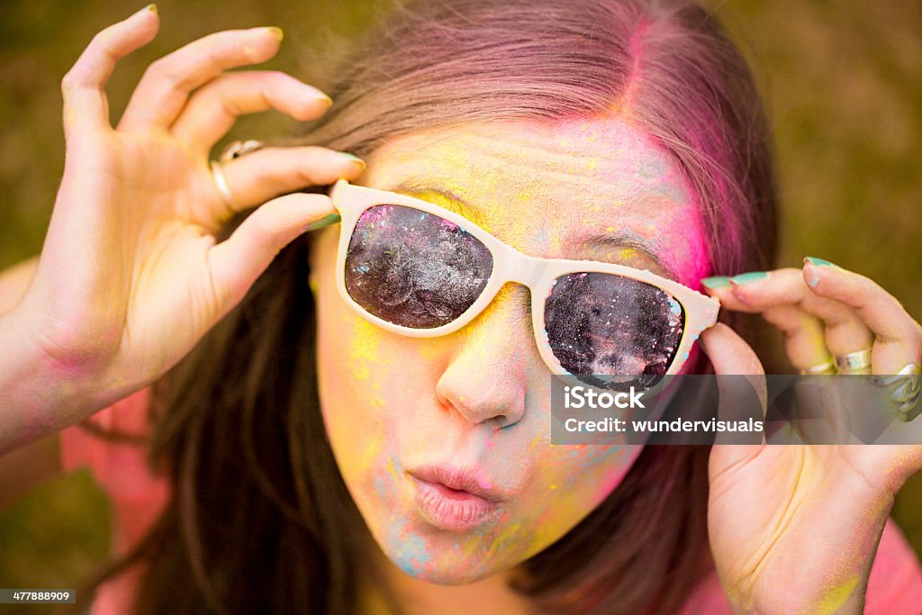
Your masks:
{"label": "curled middle finger of the raised hand at left", "polygon": [[319,89],[285,73],[228,73],[193,94],[172,133],[207,154],[245,113],[276,109],[306,122],[323,115],[332,103]]}

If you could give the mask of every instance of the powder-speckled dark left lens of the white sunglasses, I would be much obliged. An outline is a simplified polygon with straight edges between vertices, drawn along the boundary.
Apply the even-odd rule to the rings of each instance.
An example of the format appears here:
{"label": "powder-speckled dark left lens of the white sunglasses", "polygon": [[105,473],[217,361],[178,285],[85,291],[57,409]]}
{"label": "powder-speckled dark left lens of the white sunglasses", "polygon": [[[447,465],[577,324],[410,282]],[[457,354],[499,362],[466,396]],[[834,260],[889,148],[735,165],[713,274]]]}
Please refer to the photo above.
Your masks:
{"label": "powder-speckled dark left lens of the white sunglasses", "polygon": [[413,207],[377,205],[356,223],[346,290],[367,312],[429,329],[467,311],[487,286],[493,257],[453,222]]}

